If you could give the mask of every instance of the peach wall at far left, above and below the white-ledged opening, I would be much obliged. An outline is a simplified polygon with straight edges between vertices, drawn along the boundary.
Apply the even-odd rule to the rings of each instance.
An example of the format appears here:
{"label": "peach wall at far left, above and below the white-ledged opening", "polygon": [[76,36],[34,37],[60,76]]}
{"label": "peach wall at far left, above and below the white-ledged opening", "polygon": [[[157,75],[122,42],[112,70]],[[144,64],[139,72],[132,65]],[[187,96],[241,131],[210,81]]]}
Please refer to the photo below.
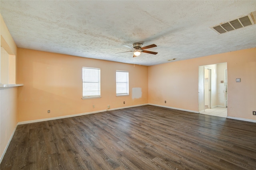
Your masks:
{"label": "peach wall at far left, above and below the white-ledged opening", "polygon": [[[1,46],[8,54],[16,55],[17,46],[0,16]],[[0,53],[1,54],[1,53]],[[1,61],[1,60],[0,60]],[[1,68],[0,68],[1,70]],[[1,75],[1,74],[0,74]],[[0,78],[1,80],[1,78]],[[18,87],[0,88],[0,160],[18,122]]]}

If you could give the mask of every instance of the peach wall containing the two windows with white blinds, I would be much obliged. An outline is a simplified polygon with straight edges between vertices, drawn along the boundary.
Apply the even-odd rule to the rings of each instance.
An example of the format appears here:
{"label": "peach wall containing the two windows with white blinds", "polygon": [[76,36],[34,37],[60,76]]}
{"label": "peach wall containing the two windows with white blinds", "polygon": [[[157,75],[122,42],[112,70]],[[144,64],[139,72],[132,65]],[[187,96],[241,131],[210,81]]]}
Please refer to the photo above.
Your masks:
{"label": "peach wall containing the two windows with white blinds", "polygon": [[[148,103],[147,66],[19,48],[18,56],[19,122]],[[102,98],[81,99],[83,66],[101,69]],[[116,70],[129,72],[130,96],[116,97]],[[133,88],[141,88],[141,98],[132,98]]]}

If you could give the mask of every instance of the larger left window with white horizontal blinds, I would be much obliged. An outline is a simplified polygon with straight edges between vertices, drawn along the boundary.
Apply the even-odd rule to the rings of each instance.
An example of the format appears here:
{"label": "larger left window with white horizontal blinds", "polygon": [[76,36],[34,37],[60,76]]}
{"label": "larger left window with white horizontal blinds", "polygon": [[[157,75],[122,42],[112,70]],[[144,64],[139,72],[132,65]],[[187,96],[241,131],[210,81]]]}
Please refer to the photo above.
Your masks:
{"label": "larger left window with white horizontal blinds", "polygon": [[82,68],[83,98],[100,98],[100,68]]}

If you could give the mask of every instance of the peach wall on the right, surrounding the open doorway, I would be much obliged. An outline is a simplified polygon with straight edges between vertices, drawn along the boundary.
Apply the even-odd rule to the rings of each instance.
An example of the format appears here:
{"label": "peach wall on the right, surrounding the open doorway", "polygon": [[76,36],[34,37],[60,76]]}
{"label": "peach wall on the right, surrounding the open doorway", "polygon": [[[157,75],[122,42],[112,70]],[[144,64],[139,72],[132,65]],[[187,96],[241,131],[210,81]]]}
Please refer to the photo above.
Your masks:
{"label": "peach wall on the right, surrounding the open doorway", "polygon": [[252,115],[256,110],[256,48],[149,66],[148,103],[199,111],[198,67],[224,62],[228,68],[228,116],[256,120]]}

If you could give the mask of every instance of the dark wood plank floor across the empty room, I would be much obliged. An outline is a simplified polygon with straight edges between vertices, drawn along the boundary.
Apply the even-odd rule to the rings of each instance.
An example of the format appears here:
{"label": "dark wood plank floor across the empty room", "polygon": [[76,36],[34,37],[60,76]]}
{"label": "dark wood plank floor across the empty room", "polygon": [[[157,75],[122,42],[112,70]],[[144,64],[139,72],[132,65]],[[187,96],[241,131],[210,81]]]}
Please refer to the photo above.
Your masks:
{"label": "dark wood plank floor across the empty room", "polygon": [[256,169],[256,123],[156,106],[18,125],[1,170]]}

